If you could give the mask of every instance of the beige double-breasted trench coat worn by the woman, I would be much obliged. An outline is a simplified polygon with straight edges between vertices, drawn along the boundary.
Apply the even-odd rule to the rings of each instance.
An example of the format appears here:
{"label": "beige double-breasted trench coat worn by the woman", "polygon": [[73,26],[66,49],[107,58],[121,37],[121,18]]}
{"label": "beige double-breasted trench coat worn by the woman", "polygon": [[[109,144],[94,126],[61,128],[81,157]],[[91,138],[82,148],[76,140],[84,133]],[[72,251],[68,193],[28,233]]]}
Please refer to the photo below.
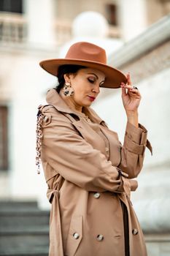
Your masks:
{"label": "beige double-breasted trench coat worn by the woman", "polygon": [[55,89],[39,106],[42,166],[50,213],[50,256],[125,256],[123,210],[131,256],[147,255],[130,200],[142,169],[147,130],[127,124],[123,146],[91,108],[71,110]]}

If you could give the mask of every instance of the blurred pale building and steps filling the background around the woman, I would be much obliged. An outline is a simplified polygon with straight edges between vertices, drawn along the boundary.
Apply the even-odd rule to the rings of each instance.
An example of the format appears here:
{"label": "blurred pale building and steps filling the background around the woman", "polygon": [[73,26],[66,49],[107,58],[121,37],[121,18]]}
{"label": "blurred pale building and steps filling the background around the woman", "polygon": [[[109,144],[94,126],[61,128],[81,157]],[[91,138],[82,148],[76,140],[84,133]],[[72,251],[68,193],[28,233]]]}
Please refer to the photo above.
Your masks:
{"label": "blurred pale building and steps filling the background around the woman", "polygon": [[[148,129],[139,188],[131,198],[148,256],[170,255],[170,1],[0,0],[0,255],[47,255],[43,170],[36,174],[36,113],[57,79],[39,67],[73,42],[105,48],[108,64],[131,73]],[[120,89],[93,104],[123,142]],[[137,255],[136,255],[137,256]]]}

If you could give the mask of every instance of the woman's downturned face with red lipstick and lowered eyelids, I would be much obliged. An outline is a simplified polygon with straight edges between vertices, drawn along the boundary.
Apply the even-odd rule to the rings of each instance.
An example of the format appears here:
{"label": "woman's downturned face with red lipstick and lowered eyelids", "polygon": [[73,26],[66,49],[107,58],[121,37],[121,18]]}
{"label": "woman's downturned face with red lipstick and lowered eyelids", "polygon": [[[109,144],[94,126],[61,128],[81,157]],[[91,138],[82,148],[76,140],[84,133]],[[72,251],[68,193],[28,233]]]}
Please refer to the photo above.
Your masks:
{"label": "woman's downturned face with red lipstick and lowered eyelids", "polygon": [[72,100],[75,106],[89,107],[98,97],[100,86],[104,83],[105,75],[97,69],[80,69],[76,74],[64,75],[66,82],[74,89]]}

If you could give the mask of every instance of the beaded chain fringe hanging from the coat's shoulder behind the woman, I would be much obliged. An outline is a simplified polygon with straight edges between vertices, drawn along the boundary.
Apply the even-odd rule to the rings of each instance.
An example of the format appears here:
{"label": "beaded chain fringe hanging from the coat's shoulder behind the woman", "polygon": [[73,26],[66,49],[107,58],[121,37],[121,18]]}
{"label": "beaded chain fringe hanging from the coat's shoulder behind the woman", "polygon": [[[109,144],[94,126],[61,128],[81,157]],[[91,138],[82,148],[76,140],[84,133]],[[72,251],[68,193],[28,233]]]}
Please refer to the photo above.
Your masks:
{"label": "beaded chain fringe hanging from the coat's shoulder behind the woman", "polygon": [[40,164],[41,164],[41,149],[42,149],[42,121],[43,115],[39,111],[37,114],[36,120],[36,166],[37,166],[37,173],[40,173]]}

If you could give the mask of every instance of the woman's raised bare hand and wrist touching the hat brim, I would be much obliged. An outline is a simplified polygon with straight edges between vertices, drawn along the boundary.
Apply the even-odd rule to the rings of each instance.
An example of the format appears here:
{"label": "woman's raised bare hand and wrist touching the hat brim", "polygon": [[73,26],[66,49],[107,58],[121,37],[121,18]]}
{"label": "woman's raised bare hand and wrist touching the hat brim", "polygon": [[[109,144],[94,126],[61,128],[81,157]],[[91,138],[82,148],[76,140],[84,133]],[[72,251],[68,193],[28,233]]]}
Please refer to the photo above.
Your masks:
{"label": "woman's raised bare hand and wrist touching the hat brim", "polygon": [[127,83],[121,83],[123,106],[125,108],[128,121],[138,127],[138,107],[141,100],[141,94],[138,89],[131,85],[130,74],[127,74]]}

